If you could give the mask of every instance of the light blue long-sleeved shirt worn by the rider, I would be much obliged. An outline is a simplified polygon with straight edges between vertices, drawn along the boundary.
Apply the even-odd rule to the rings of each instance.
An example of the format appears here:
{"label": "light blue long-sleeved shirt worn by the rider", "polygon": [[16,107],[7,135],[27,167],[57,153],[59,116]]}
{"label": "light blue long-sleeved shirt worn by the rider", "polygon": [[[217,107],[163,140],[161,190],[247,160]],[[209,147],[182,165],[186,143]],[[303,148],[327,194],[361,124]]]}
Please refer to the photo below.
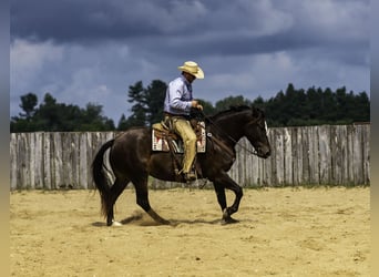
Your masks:
{"label": "light blue long-sleeved shirt worn by the rider", "polygon": [[181,75],[168,83],[164,111],[171,114],[188,115],[192,100],[192,85]]}

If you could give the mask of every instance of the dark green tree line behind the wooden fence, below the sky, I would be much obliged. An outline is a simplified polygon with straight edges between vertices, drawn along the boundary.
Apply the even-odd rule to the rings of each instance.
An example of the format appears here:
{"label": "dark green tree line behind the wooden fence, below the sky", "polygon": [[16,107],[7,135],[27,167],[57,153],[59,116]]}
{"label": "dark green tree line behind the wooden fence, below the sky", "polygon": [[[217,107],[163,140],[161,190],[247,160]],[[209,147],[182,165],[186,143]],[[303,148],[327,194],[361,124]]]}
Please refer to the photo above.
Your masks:
{"label": "dark green tree line behind the wooden fence, below the sky", "polygon": [[[71,131],[122,131],[131,126],[150,126],[163,119],[163,102],[167,84],[153,80],[146,88],[142,81],[129,86],[125,101],[132,104],[126,117],[121,115],[117,125],[103,115],[103,106],[88,103],[80,107],[73,104],[59,103],[45,93],[39,104],[38,96],[29,92],[20,96],[22,110],[12,116],[10,131],[16,132],[71,132]],[[204,114],[212,115],[232,105],[255,105],[265,111],[269,126],[300,126],[321,124],[351,124],[370,121],[370,100],[367,93],[346,88],[336,91],[329,88],[295,89],[289,83],[285,91],[264,100],[262,96],[249,100],[243,95],[231,95],[213,105],[199,99]]]}

